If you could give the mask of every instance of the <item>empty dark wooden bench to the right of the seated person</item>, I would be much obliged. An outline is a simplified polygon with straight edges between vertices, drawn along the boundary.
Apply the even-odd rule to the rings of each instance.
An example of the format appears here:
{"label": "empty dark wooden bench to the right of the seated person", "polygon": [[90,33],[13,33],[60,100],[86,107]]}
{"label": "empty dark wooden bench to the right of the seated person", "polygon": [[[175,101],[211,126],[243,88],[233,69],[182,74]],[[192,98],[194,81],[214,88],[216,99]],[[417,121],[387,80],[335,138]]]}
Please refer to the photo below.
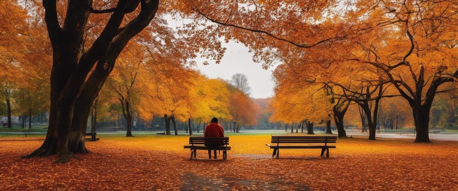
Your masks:
{"label": "empty dark wooden bench to the right of the seated person", "polygon": [[[321,156],[326,150],[326,157],[329,158],[329,148],[336,146],[329,146],[328,143],[336,143],[337,136],[272,136],[272,145],[266,144],[268,147],[273,148],[273,156],[277,155],[279,149],[284,148],[321,148]],[[324,143],[324,145],[311,145],[316,143]],[[275,145],[276,144],[276,145]],[[286,144],[286,145],[285,145]]]}

